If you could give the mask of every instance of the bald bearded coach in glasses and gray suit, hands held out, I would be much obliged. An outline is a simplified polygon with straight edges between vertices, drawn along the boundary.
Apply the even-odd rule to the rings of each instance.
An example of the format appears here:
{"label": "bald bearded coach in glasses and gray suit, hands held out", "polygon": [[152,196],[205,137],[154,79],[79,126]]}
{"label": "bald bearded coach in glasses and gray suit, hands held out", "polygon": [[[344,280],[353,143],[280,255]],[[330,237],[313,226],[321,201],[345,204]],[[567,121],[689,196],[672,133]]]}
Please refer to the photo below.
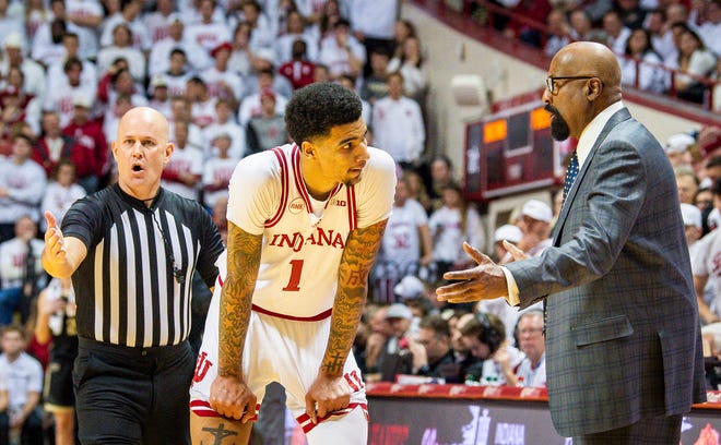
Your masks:
{"label": "bald bearded coach in glasses and gray suit, hands held out", "polygon": [[[440,300],[546,299],[548,405],[574,444],[678,444],[682,413],[706,399],[698,309],[674,175],[620,100],[603,45],[552,60],[543,95],[556,140],[578,137],[553,246],[473,269]],[[575,178],[576,177],[576,178]],[[574,180],[575,179],[575,180]]]}

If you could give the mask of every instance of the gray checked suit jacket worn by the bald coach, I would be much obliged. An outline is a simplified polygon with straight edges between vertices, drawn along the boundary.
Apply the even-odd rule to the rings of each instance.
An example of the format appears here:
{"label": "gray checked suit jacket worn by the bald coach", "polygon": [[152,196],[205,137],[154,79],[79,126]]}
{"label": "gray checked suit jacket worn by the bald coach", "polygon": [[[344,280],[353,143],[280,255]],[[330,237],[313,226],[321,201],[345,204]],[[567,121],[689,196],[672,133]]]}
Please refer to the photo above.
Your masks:
{"label": "gray checked suit jacket worn by the bald coach", "polygon": [[554,228],[506,266],[521,308],[546,296],[556,430],[607,431],[706,400],[700,324],[673,170],[627,109],[606,123]]}

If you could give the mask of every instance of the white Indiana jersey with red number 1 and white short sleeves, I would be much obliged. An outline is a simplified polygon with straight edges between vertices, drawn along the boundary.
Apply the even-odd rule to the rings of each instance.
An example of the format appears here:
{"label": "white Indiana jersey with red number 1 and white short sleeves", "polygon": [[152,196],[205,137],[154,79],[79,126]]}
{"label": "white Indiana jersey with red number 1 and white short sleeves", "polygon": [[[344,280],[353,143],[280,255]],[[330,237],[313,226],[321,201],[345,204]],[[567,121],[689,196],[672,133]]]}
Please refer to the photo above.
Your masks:
{"label": "white Indiana jersey with red number 1 and white short sleeves", "polygon": [[[263,234],[253,310],[291,320],[330,315],[348,233],[388,218],[395,167],[368,147],[362,180],[339,184],[314,214],[295,144],[244,158],[231,180],[228,220]],[[279,204],[280,203],[280,204]]]}

